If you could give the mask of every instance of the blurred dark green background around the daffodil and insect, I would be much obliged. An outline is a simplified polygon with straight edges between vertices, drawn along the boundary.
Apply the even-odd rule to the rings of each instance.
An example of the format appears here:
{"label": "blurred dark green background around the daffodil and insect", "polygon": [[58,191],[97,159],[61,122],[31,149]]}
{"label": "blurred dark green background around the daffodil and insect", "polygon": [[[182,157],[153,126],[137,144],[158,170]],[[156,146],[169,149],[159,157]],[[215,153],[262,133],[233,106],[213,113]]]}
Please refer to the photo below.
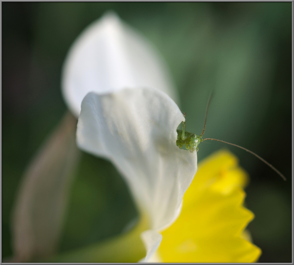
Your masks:
{"label": "blurred dark green background around the daffodil and insect", "polygon": [[[292,262],[292,3],[24,3],[2,2],[2,258],[12,255],[10,215],[17,188],[39,146],[67,111],[61,67],[81,31],[114,10],[166,60],[200,134],[246,147],[251,154],[206,141],[198,160],[221,148],[251,177],[248,226],[259,262]],[[82,153],[70,190],[58,250],[85,247],[118,234],[137,212],[116,169]]]}

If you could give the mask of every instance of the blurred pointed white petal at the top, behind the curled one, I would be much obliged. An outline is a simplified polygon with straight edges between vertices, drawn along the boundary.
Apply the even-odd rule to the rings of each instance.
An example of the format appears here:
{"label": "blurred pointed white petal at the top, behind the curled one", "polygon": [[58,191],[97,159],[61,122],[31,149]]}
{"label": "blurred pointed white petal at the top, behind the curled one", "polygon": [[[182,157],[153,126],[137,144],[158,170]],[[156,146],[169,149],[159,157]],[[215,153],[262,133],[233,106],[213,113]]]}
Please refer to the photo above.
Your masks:
{"label": "blurred pointed white petal at the top, behind the curled one", "polygon": [[78,117],[87,93],[124,87],[157,88],[177,100],[167,67],[155,48],[109,12],[73,43],[63,67],[62,91]]}

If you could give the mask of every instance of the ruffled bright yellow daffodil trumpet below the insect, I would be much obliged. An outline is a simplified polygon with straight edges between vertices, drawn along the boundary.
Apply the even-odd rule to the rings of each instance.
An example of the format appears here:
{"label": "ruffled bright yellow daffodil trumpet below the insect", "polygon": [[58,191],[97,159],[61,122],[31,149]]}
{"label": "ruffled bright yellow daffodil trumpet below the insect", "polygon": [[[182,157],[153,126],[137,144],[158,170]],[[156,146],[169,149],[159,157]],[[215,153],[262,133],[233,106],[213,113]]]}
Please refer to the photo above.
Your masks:
{"label": "ruffled bright yellow daffodil trumpet below the insect", "polygon": [[246,240],[244,232],[254,218],[242,206],[247,182],[245,171],[228,151],[199,163],[179,218],[162,232],[162,261],[255,262],[261,250]]}

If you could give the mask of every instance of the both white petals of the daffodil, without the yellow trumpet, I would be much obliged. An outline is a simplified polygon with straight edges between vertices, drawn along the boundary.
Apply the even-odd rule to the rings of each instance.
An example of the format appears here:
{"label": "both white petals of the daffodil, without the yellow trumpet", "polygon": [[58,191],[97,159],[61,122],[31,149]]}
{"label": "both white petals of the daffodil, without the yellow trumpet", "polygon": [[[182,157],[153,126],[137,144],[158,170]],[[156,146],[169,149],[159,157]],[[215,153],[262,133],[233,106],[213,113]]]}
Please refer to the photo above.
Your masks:
{"label": "both white petals of the daffodil, without the yellow trumpet", "polygon": [[197,152],[176,146],[184,116],[164,63],[143,37],[106,14],[73,44],[62,84],[69,108],[81,112],[77,145],[117,167],[150,222],[141,234],[147,261],[197,171]]}

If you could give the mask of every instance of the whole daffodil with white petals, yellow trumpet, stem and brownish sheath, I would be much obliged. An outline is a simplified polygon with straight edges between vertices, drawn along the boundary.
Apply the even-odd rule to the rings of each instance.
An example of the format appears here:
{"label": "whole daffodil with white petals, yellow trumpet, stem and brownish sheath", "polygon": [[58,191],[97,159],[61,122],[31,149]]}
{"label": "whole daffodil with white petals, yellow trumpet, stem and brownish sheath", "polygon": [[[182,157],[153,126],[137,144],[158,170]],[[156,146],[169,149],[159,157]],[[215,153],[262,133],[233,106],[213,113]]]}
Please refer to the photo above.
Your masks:
{"label": "whole daffodil with white petals, yellow trumpet, stem and brownish sheath", "polygon": [[[253,218],[242,206],[245,173],[233,155],[220,153],[195,175],[197,152],[176,146],[176,128],[185,120],[177,92],[143,36],[114,13],[104,15],[73,43],[62,91],[79,117],[77,145],[117,167],[140,220],[116,238],[58,256],[59,262],[258,259],[260,250],[244,231]],[[76,119],[67,115],[25,174],[14,209],[14,262],[56,253],[70,171],[78,161],[75,128]]]}

